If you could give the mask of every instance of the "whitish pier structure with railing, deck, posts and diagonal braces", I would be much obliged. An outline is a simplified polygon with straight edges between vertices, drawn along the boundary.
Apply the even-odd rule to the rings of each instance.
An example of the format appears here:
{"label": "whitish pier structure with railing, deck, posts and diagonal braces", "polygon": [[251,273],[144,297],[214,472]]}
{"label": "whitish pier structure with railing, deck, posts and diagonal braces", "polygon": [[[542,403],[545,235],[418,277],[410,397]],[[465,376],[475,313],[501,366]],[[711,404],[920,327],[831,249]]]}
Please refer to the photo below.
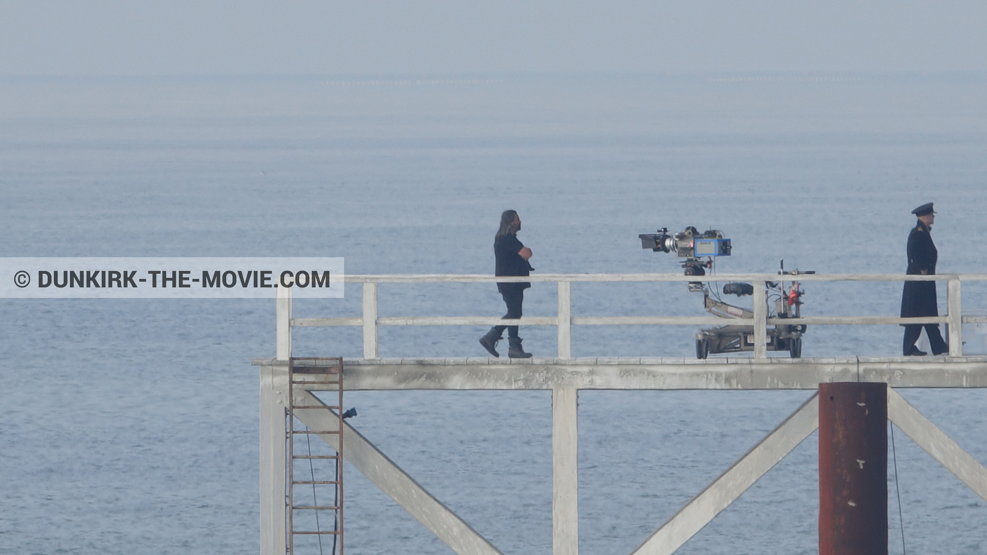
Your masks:
{"label": "whitish pier structure with railing, deck, posts and diagonal braces", "polygon": [[[754,289],[779,277],[773,274],[708,276],[715,281],[751,281]],[[379,316],[378,286],[388,283],[484,283],[496,281],[557,282],[559,310],[556,315],[524,316],[502,320],[495,316]],[[687,281],[680,274],[556,274],[506,278],[486,275],[380,275],[345,276],[346,282],[363,287],[362,314],[328,318],[294,318],[290,290],[279,290],[277,300],[277,354],[255,359],[261,370],[261,536],[262,555],[284,553],[284,399],[287,398],[287,369],[291,357],[291,331],[295,327],[356,326],[362,328],[361,358],[342,360],[345,390],[402,389],[541,389],[552,391],[552,469],[553,469],[553,555],[578,553],[578,394],[583,389],[804,389],[805,402],[750,451],[674,516],[655,523],[654,532],[643,539],[634,555],[671,555],[775,464],[819,428],[820,406],[828,401],[817,395],[820,384],[850,382],[865,390],[881,388],[886,402],[886,419],[896,424],[919,447],[928,451],[960,481],[987,501],[987,468],[963,451],[947,434],[908,404],[894,388],[902,387],[987,387],[987,356],[963,356],[962,324],[987,323],[987,316],[962,316],[961,281],[987,281],[987,274],[939,276],[904,275],[809,275],[800,281],[915,281],[948,282],[948,314],[921,318],[895,315],[771,317],[755,307],[752,357],[693,358],[587,357],[572,358],[573,325],[723,325],[734,320],[714,316],[596,316],[573,315],[570,299],[576,282],[661,282]],[[761,296],[763,297],[763,296]],[[760,299],[760,297],[759,297]],[[760,301],[764,302],[763,299]],[[555,325],[558,327],[558,357],[508,359],[466,358],[380,358],[378,327],[381,325]],[[831,357],[789,358],[767,356],[766,326],[778,324],[814,325],[897,325],[901,323],[949,323],[949,355],[928,357]],[[333,356],[336,353],[322,353]],[[301,376],[301,375],[299,375]],[[302,378],[304,379],[304,378]],[[323,388],[318,382],[303,384],[306,391]],[[318,399],[306,392],[314,404]],[[865,403],[874,402],[873,394]],[[878,394],[879,396],[879,394]],[[834,395],[835,397],[835,395]],[[856,403],[858,401],[854,401]],[[855,405],[856,406],[856,405]],[[301,414],[310,427],[320,425],[319,414]],[[823,419],[825,421],[825,419]],[[883,418],[876,417],[883,430]],[[829,423],[825,424],[827,427]],[[875,426],[875,425],[874,425]],[[874,427],[874,430],[876,428]],[[495,555],[493,544],[469,523],[425,491],[413,477],[391,461],[348,424],[343,424],[345,459],[371,482],[407,510],[423,526],[462,555]],[[333,437],[324,437],[331,446]],[[873,444],[873,445],[872,445]],[[879,444],[871,442],[873,446]],[[878,450],[879,451],[879,450]],[[886,452],[884,454],[886,456]],[[876,452],[868,451],[862,460],[879,462]],[[856,462],[856,458],[854,459]],[[858,463],[859,464],[859,463]],[[865,466],[867,462],[864,463]],[[873,466],[872,466],[873,468]],[[874,494],[878,495],[878,494]],[[879,496],[879,495],[878,495]],[[835,499],[835,497],[834,497]],[[886,508],[884,545],[886,550]],[[834,517],[835,518],[835,517]],[[878,518],[879,520],[879,518]],[[833,551],[833,553],[852,553]],[[863,552],[862,552],[863,553]],[[829,552],[827,552],[829,555]]]}

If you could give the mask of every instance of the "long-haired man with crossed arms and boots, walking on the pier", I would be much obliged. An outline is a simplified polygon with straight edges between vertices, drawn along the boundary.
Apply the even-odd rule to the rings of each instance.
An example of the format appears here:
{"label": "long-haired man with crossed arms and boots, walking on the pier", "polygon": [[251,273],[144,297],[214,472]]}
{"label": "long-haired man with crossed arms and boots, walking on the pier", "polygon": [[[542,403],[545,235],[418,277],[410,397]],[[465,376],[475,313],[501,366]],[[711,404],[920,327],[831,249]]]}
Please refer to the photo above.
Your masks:
{"label": "long-haired man with crossed arms and boots, walking on the pier", "polygon": [[[531,249],[521,244],[517,240],[517,232],[521,230],[521,218],[513,210],[504,210],[500,214],[500,229],[497,230],[493,238],[493,254],[496,257],[496,271],[493,275],[498,276],[527,276],[534,268],[528,263],[531,258]],[[503,297],[503,302],[507,305],[507,313],[503,318],[513,319],[521,317],[521,304],[524,303],[524,290],[531,287],[528,282],[522,283],[497,283],[497,291]],[[526,359],[531,353],[525,353],[521,347],[521,338],[517,335],[517,326],[494,325],[487,335],[480,338],[480,344],[494,357],[499,357],[496,352],[496,342],[503,338],[503,330],[507,328],[507,341],[510,345],[507,356],[512,359]]]}

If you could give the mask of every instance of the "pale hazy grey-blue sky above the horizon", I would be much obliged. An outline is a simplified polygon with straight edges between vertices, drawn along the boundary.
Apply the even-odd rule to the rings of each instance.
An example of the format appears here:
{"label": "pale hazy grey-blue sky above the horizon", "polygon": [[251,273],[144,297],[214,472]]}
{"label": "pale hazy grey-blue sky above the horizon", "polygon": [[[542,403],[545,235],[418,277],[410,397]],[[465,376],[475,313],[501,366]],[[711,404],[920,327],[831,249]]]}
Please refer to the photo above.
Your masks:
{"label": "pale hazy grey-blue sky above the horizon", "polygon": [[0,0],[0,75],[984,71],[984,0]]}

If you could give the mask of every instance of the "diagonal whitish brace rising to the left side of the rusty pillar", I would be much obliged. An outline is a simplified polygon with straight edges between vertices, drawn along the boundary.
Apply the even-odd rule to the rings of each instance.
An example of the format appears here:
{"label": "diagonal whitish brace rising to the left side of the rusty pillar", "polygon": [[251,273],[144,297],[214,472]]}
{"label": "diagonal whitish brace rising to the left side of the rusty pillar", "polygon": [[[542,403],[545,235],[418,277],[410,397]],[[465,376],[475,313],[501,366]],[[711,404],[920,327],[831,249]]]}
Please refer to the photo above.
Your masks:
{"label": "diagonal whitish brace rising to the left side of the rusty pillar", "polygon": [[761,440],[761,443],[747,451],[747,454],[662,524],[633,555],[674,553],[818,427],[819,397],[813,394],[785,422]]}

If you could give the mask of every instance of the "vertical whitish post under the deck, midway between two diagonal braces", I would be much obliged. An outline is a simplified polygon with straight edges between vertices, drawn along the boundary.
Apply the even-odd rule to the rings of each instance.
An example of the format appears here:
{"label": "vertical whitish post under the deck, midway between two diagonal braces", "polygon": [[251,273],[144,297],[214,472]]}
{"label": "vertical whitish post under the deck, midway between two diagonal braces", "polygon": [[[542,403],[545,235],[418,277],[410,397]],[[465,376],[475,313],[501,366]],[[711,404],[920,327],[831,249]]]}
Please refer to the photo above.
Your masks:
{"label": "vertical whitish post under the deck, midway between two diagonal braces", "polygon": [[577,395],[552,389],[552,555],[579,553]]}

